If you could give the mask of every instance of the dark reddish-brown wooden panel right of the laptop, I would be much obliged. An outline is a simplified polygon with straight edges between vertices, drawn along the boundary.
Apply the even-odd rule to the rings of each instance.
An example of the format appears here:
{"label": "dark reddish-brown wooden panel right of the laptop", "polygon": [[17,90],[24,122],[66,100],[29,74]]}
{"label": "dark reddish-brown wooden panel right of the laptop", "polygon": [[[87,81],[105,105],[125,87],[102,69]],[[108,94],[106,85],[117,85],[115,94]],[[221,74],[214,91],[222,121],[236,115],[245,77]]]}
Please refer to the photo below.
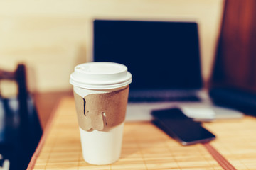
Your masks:
{"label": "dark reddish-brown wooden panel right of the laptop", "polygon": [[213,82],[256,91],[256,1],[227,0]]}

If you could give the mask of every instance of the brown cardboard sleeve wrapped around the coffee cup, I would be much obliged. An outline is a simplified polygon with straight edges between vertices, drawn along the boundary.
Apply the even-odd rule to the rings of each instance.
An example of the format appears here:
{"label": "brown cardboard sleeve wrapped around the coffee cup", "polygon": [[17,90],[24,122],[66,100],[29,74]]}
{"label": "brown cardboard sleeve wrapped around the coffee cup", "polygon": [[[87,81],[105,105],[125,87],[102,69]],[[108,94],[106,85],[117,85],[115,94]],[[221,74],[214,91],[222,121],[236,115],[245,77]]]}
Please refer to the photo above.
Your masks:
{"label": "brown cardboard sleeve wrapped around the coffee cup", "polygon": [[107,131],[124,122],[129,87],[105,94],[79,96],[74,91],[78,124],[82,130]]}

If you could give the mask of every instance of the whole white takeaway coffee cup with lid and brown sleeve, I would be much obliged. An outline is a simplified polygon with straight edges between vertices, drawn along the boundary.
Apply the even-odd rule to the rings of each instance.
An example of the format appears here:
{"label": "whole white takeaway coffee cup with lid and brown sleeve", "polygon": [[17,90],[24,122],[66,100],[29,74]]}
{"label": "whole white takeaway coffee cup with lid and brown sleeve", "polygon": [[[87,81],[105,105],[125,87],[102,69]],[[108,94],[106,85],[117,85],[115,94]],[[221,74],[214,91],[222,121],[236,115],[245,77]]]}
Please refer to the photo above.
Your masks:
{"label": "whole white takeaway coffee cup with lid and brown sleeve", "polygon": [[[124,121],[119,121],[117,124],[111,124],[111,121],[114,122],[115,118],[117,120],[121,120],[118,116],[119,114],[124,114],[125,116],[125,107],[127,105],[127,96],[128,96],[128,86],[132,82],[132,75],[127,72],[127,67],[122,64],[111,63],[111,62],[90,62],[85,64],[80,64],[75,67],[75,72],[70,75],[70,84],[73,84],[74,95],[78,95],[75,98],[86,98],[85,108],[87,109],[87,103],[90,103],[91,100],[90,96],[98,95],[100,98],[100,102],[103,102],[102,105],[106,108],[107,112],[111,111],[111,108],[107,108],[108,105],[105,103],[104,95],[114,93],[115,96],[120,96],[119,91],[122,91],[123,97],[118,98],[115,102],[115,105],[119,104],[119,101],[122,101],[122,111],[113,111],[113,113],[106,113],[106,116],[101,117],[99,120],[104,120],[104,128],[98,130],[97,126],[101,123],[96,123],[96,126],[93,126],[93,122],[97,122],[94,117],[90,117],[89,124],[92,123],[92,128],[90,125],[85,125],[84,122],[81,123],[81,118],[85,118],[83,116],[92,116],[96,113],[92,113],[87,111],[84,115],[80,113],[78,115],[78,123],[80,125],[80,138],[81,138],[81,145],[82,145],[82,155],[86,162],[89,164],[112,164],[116,162],[121,153],[122,147],[122,133],[124,127]],[[125,95],[124,95],[125,94]],[[115,97],[114,96],[114,97]],[[112,98],[114,98],[112,97]],[[102,99],[104,98],[104,99]],[[106,97],[107,103],[112,102],[112,98],[107,96]],[[95,98],[94,98],[95,100]],[[77,113],[80,110],[80,106],[77,105],[78,100],[76,99],[76,108]],[[96,101],[97,102],[97,101]],[[89,105],[89,104],[88,104]],[[99,106],[99,105],[98,105]],[[97,105],[94,106],[93,103],[89,107],[94,111],[93,107],[98,107]],[[121,106],[121,104],[120,104]],[[101,107],[101,106],[99,106]],[[125,109],[125,110],[124,110]],[[97,110],[97,109],[96,109]],[[80,111],[81,112],[81,111]],[[103,111],[105,115],[105,110]],[[103,113],[102,112],[102,113]],[[121,113],[122,112],[122,113]],[[124,112],[124,113],[123,113]],[[78,113],[79,114],[79,113]],[[103,114],[102,114],[103,115]],[[109,119],[108,116],[112,116],[112,119]],[[82,116],[82,117],[81,117]],[[102,118],[102,119],[101,119]],[[119,119],[118,119],[119,118]],[[111,120],[111,121],[109,121]],[[82,120],[83,121],[83,120]],[[102,124],[100,124],[102,125]],[[90,129],[89,129],[89,128]],[[95,128],[96,127],[96,128]],[[102,126],[100,126],[102,128]]]}

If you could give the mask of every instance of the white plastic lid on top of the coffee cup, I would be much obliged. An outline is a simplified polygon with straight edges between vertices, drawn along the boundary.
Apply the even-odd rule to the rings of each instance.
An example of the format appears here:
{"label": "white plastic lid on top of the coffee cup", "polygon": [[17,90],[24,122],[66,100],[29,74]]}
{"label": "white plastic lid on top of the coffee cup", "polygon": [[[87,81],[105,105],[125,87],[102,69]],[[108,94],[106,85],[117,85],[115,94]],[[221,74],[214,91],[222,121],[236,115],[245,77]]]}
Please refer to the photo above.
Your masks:
{"label": "white plastic lid on top of the coffee cup", "polygon": [[70,84],[85,89],[115,89],[132,82],[132,74],[123,64],[88,62],[79,64],[70,74]]}

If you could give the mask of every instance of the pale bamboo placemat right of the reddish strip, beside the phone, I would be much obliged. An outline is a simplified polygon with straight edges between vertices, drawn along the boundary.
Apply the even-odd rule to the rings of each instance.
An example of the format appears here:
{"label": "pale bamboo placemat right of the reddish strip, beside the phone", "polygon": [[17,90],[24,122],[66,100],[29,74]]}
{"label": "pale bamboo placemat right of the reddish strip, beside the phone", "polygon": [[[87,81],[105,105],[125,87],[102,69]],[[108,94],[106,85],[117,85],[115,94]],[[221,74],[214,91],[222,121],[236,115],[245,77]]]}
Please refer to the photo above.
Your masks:
{"label": "pale bamboo placemat right of the reddish strip, beside the phone", "polygon": [[204,126],[218,137],[210,144],[236,169],[256,169],[256,118],[218,120]]}

